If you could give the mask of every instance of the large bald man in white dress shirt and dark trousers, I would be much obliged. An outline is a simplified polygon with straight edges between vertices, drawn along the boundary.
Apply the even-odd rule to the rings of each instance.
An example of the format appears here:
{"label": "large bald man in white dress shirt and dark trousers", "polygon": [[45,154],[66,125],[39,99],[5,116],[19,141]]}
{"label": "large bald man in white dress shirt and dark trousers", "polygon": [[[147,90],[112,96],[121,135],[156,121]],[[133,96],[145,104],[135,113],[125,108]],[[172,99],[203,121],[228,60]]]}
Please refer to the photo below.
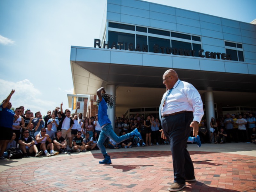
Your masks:
{"label": "large bald man in white dress shirt and dark trousers", "polygon": [[201,96],[196,88],[180,81],[176,71],[169,69],[163,75],[167,91],[159,108],[162,138],[170,141],[173,161],[174,182],[169,191],[180,191],[186,181],[195,181],[192,160],[187,150],[187,140],[193,127],[193,135],[198,134],[198,125],[204,111]]}

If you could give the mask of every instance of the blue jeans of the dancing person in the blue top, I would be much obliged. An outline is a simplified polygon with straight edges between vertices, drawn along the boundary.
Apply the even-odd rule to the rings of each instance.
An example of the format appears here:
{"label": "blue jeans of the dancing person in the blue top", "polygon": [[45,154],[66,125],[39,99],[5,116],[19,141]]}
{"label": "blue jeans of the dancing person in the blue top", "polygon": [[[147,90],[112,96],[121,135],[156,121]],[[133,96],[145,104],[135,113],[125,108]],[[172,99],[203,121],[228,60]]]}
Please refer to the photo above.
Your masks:
{"label": "blue jeans of the dancing person in the blue top", "polygon": [[114,132],[111,124],[105,125],[100,132],[100,137],[97,142],[97,146],[99,147],[100,152],[103,154],[103,156],[107,155],[106,148],[104,147],[104,142],[108,137],[115,141],[116,143],[121,143],[122,141],[129,139],[131,137],[131,133],[127,133],[125,135],[118,137]]}

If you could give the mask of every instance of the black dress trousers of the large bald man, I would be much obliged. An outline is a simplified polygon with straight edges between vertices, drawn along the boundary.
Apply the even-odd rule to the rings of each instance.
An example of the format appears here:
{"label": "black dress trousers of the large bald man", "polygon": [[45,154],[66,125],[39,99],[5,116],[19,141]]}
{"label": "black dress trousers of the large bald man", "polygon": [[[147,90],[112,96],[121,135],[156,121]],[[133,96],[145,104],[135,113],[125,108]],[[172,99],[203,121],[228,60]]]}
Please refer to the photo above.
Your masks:
{"label": "black dress trousers of the large bald man", "polygon": [[187,140],[191,132],[190,123],[193,113],[181,113],[163,117],[161,125],[164,135],[170,141],[174,182],[185,183],[186,179],[194,179],[194,165],[187,150]]}

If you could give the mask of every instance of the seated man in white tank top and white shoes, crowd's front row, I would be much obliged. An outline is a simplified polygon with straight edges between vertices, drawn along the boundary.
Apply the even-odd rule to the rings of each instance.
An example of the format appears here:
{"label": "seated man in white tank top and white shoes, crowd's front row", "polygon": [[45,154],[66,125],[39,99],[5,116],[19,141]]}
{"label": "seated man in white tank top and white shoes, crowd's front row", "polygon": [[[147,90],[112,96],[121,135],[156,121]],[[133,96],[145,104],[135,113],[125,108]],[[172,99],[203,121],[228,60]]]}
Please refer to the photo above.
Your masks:
{"label": "seated man in white tank top and white shoes, crowd's front row", "polygon": [[[58,155],[58,151],[54,151],[53,148],[53,143],[48,134],[46,134],[46,129],[43,127],[41,128],[41,133],[38,133],[36,135],[36,147],[39,150],[43,150],[45,153],[45,156],[50,157],[53,155]],[[47,149],[50,149],[50,153],[47,151]]]}

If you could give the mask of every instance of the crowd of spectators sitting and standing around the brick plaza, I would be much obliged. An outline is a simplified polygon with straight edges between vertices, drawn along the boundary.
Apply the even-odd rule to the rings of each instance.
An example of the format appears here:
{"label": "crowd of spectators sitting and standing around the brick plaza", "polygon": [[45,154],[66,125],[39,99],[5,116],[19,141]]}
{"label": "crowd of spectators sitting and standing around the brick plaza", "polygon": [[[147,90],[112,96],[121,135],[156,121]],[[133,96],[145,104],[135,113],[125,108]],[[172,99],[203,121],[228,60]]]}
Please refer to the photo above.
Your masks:
{"label": "crowd of spectators sitting and standing around the brick plaza", "polygon": [[[82,113],[77,114],[77,107],[71,116],[68,109],[62,111],[62,103],[53,111],[47,111],[45,116],[40,111],[34,114],[30,109],[25,110],[24,106],[12,111],[10,99],[14,92],[12,90],[0,105],[1,159],[10,158],[10,149],[13,148],[21,150],[23,157],[38,157],[43,154],[53,156],[98,149],[97,141],[101,132],[98,115],[83,117]],[[207,129],[204,119],[200,123],[198,135],[202,143],[256,143],[255,122],[253,113],[239,116],[227,114],[225,118],[212,118],[211,127]],[[161,124],[154,116],[144,118],[143,115],[136,114],[130,118],[116,117],[114,131],[117,135],[132,132],[135,128],[141,133],[142,139],[134,136],[122,143],[106,140],[105,147],[117,149],[169,144],[161,138]]]}

